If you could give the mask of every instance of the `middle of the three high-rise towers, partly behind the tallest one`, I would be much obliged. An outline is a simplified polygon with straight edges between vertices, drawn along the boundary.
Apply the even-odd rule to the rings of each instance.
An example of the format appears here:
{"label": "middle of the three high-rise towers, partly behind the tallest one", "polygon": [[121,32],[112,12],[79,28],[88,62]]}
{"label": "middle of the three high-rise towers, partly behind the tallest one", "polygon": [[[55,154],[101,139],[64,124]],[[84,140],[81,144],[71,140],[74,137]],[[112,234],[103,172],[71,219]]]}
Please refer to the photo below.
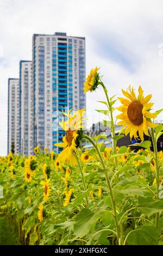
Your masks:
{"label": "middle of the three high-rise towers, partly behind the tallest one", "polygon": [[20,61],[20,153],[32,155],[34,149],[34,90],[32,62]]}

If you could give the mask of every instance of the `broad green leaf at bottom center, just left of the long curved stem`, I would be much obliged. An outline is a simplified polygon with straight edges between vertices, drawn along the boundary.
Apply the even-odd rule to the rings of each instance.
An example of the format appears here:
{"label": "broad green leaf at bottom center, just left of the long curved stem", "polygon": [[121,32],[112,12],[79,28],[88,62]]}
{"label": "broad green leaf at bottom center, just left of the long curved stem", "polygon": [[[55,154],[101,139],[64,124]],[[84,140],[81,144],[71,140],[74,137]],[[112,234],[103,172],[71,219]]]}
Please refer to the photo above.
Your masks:
{"label": "broad green leaf at bottom center, just left of the long curved stem", "polygon": [[95,214],[87,208],[80,211],[74,223],[74,236],[82,238],[89,234],[95,228],[98,216],[99,210]]}

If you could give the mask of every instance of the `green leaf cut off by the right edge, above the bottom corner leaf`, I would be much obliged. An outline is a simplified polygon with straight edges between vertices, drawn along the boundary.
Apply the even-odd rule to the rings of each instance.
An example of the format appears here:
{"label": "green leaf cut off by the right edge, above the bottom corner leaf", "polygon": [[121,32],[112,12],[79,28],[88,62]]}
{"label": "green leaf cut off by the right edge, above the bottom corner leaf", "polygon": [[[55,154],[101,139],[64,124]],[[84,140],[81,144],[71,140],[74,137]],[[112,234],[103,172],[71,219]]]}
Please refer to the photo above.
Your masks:
{"label": "green leaf cut off by the right edge, above the bottom corner leaf", "polygon": [[140,204],[137,209],[139,209],[142,214],[153,215],[156,212],[160,212],[163,210],[163,198],[159,200],[151,199],[150,202]]}

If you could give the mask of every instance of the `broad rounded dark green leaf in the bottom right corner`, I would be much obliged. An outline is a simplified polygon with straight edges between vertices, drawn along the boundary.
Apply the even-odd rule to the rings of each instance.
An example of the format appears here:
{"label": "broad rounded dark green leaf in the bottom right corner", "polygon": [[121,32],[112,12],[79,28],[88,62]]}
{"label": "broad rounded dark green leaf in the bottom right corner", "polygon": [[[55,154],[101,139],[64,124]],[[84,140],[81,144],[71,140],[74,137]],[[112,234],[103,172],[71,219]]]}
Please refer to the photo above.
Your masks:
{"label": "broad rounded dark green leaf in the bottom right corner", "polygon": [[158,245],[158,240],[159,230],[152,226],[140,226],[127,238],[129,245]]}

